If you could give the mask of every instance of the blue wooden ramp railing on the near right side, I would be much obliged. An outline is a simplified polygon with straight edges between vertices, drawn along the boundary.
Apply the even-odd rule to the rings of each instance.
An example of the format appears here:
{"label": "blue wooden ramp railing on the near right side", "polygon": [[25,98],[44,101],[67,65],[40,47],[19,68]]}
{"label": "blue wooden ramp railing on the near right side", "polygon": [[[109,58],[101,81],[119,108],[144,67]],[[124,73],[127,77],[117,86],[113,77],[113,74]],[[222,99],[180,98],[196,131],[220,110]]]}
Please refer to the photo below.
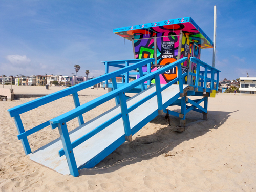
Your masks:
{"label": "blue wooden ramp railing on the near right side", "polygon": [[[122,118],[122,120],[123,120],[125,140],[131,141],[132,132],[131,132],[131,127],[130,127],[129,112],[131,112],[132,110],[137,108],[139,105],[141,105],[142,103],[146,102],[147,100],[151,99],[154,96],[157,96],[158,110],[162,111],[163,107],[164,107],[163,102],[162,102],[162,91],[177,81],[179,81],[180,95],[183,96],[183,79],[187,75],[187,73],[182,74],[181,63],[183,63],[186,59],[187,59],[187,57],[184,57],[180,60],[173,62],[172,64],[169,64],[169,65],[167,65],[161,69],[158,69],[150,74],[147,74],[145,76],[143,76],[141,74],[139,79],[136,79],[128,84],[125,84],[125,86],[115,89],[107,94],[104,94],[92,101],[89,101],[89,102],[87,102],[81,106],[78,106],[77,108],[75,108],[67,113],[64,113],[64,114],[50,120],[52,129],[55,129],[56,127],[58,127],[61,142],[63,145],[63,148],[61,150],[59,150],[59,156],[62,156],[64,154],[66,155],[66,159],[67,159],[68,166],[70,169],[70,174],[75,177],[79,175],[79,173],[78,173],[79,167],[77,167],[77,164],[76,164],[75,156],[73,153],[73,148],[77,147],[84,141],[88,140],[95,134],[99,133],[100,131],[105,129],[105,127],[109,126],[110,124],[112,124],[113,122],[117,121],[120,118]],[[130,67],[132,67],[132,66],[125,67],[125,68],[130,68]],[[134,65],[133,65],[133,67],[134,67]],[[170,81],[169,83],[167,83],[165,86],[161,87],[159,75],[164,73],[165,71],[168,71],[168,70],[174,68],[174,67],[178,68],[178,77],[175,78],[174,80]],[[125,68],[122,68],[122,69],[125,69]],[[122,70],[122,69],[120,69],[120,70]],[[141,70],[141,72],[142,72],[142,70]],[[142,84],[141,87],[143,87],[144,82],[147,80],[150,80],[152,78],[155,78],[156,91],[154,93],[152,93],[151,95],[147,96],[146,98],[140,100],[136,104],[130,106],[130,108],[127,108],[125,92],[133,89],[134,87],[138,86],[139,84]],[[113,78],[112,78],[112,80],[113,80]],[[143,89],[142,89],[142,91],[143,91]],[[99,106],[100,104],[102,104],[106,101],[109,101],[110,99],[115,98],[115,97],[119,97],[121,113],[116,115],[115,117],[109,119],[108,121],[103,122],[100,126],[95,127],[95,129],[92,130],[91,132],[87,133],[86,135],[81,136],[79,139],[77,139],[71,143],[66,123],[68,121],[70,121],[76,117],[79,117],[82,114],[92,110],[93,108]],[[140,127],[140,129],[141,128],[142,127]]]}

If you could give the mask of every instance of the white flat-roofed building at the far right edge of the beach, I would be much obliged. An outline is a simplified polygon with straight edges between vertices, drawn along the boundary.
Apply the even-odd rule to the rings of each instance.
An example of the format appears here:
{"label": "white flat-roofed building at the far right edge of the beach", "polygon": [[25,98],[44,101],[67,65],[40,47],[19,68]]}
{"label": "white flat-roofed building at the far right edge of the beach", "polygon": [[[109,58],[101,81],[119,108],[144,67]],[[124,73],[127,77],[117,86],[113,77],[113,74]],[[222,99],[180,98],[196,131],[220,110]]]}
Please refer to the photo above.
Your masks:
{"label": "white flat-roofed building at the far right edge of the beach", "polygon": [[256,94],[256,77],[240,77],[240,93]]}

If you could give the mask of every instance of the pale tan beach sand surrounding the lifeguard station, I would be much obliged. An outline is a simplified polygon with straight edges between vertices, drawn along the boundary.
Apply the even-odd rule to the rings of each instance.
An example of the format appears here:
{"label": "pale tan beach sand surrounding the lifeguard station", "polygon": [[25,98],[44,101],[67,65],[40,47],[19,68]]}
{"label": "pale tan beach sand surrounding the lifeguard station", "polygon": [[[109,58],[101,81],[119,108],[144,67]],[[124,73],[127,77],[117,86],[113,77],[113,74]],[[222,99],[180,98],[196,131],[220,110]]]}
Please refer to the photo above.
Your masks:
{"label": "pale tan beach sand surrounding the lifeguard station", "polygon": [[[15,93],[48,94],[58,87],[13,86]],[[81,104],[104,93],[103,89],[79,92]],[[191,97],[190,97],[191,98]],[[192,97],[193,98],[193,97]],[[189,112],[185,132],[172,129],[157,116],[96,167],[79,170],[79,177],[61,175],[25,155],[8,109],[35,98],[0,102],[1,191],[256,191],[255,96],[218,94],[209,98],[208,120]],[[106,102],[83,115],[88,121],[115,106]],[[25,130],[74,108],[68,96],[20,115]],[[179,112],[178,107],[172,108]],[[195,124],[191,122],[196,122]],[[67,123],[69,131],[77,119]],[[50,126],[28,137],[32,151],[59,137]]]}

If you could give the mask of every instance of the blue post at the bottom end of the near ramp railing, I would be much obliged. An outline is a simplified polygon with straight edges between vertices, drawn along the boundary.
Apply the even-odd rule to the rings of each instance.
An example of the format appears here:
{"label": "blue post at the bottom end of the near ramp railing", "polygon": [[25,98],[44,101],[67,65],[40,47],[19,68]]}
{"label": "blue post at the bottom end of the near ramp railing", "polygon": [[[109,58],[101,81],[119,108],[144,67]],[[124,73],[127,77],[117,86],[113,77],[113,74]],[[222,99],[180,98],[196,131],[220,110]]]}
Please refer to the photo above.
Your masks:
{"label": "blue post at the bottom end of the near ramp railing", "polygon": [[66,159],[68,162],[70,174],[73,175],[74,177],[77,177],[79,176],[79,173],[78,173],[78,168],[76,165],[76,160],[75,160],[73,148],[71,145],[66,122],[58,123],[58,130],[59,130],[59,135],[61,138],[63,150],[65,152]]}

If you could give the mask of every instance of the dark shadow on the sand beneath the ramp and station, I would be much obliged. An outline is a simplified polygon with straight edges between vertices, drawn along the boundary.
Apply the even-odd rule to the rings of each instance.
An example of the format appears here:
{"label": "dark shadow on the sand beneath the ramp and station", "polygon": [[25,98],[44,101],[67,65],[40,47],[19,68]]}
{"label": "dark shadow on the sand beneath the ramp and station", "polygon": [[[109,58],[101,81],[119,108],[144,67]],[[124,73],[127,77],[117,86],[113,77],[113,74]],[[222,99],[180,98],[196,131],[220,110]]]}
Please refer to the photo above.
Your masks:
{"label": "dark shadow on the sand beneath the ramp and station", "polygon": [[[179,112],[178,110],[174,111]],[[208,111],[208,120],[206,121],[199,121],[202,120],[202,114],[194,111],[189,112],[186,115],[188,126],[185,132],[173,131],[174,127],[179,125],[179,118],[172,116],[172,126],[169,126],[164,116],[157,116],[150,123],[156,124],[156,126],[161,124],[162,126],[154,134],[146,136],[137,135],[136,138],[133,138],[133,141],[123,143],[94,168],[79,170],[79,175],[110,173],[123,166],[149,160],[161,154],[167,154],[184,141],[202,136],[211,131],[211,129],[218,129],[219,126],[226,122],[230,114],[234,112]]]}

